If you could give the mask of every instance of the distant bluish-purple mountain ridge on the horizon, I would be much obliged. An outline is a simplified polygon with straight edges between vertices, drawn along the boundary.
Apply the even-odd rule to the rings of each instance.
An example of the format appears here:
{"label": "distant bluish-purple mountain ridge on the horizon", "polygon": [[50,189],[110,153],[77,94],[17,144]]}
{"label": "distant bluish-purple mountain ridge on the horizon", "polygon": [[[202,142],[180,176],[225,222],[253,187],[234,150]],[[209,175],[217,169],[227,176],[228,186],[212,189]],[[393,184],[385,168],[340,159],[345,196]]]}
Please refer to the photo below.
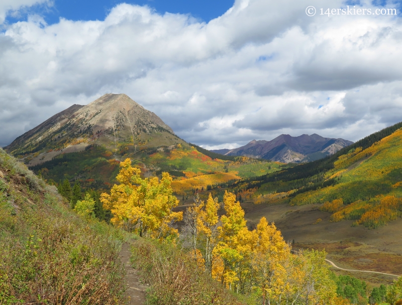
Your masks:
{"label": "distant bluish-purple mountain ridge on the horizon", "polygon": [[227,156],[247,156],[284,163],[298,163],[321,159],[351,144],[353,142],[348,140],[324,138],[317,134],[310,136],[304,134],[298,137],[282,134],[271,141],[253,140],[239,148],[213,150],[213,152]]}

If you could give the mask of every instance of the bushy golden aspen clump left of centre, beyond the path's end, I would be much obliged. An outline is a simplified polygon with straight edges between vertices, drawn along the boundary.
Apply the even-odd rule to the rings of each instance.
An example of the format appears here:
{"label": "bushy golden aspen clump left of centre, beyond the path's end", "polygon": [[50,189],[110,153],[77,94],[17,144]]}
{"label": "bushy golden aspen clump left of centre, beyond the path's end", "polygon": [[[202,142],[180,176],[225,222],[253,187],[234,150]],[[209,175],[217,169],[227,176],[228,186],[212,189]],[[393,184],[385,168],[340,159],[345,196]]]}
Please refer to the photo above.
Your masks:
{"label": "bushy golden aspen clump left of centre, beyond the path's end", "polygon": [[113,214],[112,223],[129,232],[138,228],[140,236],[152,238],[177,234],[169,225],[182,219],[182,212],[172,212],[178,205],[172,194],[172,178],[166,172],[162,178],[141,178],[140,169],[131,166],[127,158],[120,163],[116,179],[120,184],[113,185],[111,193],[100,195],[105,209]]}

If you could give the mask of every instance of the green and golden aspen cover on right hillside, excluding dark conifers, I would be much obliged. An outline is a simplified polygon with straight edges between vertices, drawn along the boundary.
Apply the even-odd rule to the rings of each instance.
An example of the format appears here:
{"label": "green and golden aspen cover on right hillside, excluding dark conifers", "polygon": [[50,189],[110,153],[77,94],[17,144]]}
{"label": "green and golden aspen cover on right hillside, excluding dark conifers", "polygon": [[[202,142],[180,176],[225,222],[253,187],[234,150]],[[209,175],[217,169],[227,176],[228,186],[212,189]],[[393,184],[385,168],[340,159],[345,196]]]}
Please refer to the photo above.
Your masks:
{"label": "green and golden aspen cover on right hillside, excluding dark conifers", "polygon": [[402,215],[402,130],[338,157],[327,179],[337,183],[296,195],[291,204],[325,202],[332,221],[376,228]]}

